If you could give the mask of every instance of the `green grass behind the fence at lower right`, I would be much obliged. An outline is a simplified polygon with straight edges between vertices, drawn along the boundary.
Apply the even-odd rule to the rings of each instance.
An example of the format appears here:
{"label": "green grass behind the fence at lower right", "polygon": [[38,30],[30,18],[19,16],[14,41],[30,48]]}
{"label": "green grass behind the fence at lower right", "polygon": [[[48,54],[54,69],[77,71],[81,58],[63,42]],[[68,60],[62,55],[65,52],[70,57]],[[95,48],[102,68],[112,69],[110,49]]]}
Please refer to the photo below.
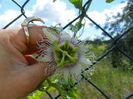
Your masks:
{"label": "green grass behind the fence at lower right", "polygon": [[[111,99],[123,99],[133,91],[133,72],[112,68],[106,60],[95,66],[91,81],[102,89]],[[89,83],[82,81],[79,88],[80,99],[104,99]]]}

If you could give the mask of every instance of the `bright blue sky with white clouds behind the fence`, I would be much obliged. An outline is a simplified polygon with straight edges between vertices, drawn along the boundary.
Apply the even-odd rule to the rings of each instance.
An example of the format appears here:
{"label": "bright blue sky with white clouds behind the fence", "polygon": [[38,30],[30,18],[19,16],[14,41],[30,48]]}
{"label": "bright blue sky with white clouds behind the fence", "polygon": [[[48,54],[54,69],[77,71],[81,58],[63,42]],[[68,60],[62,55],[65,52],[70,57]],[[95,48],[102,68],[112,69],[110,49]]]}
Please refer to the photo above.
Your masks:
{"label": "bright blue sky with white clouds behind the fence", "polygon": [[[22,5],[25,0],[16,0]],[[61,24],[65,26],[68,22],[74,19],[78,15],[78,10],[74,8],[68,0],[30,0],[25,6],[25,13],[27,16],[41,17],[47,26]],[[83,0],[86,2],[87,0]],[[121,3],[123,0],[114,0],[112,3],[106,3],[105,0],[93,0],[91,6],[87,12],[95,22],[103,26],[106,22],[107,16],[116,15],[118,12],[122,13],[122,8],[126,6],[125,3]],[[15,5],[11,0],[0,0],[0,28],[4,27],[11,20],[20,15],[20,8]],[[24,17],[21,17],[10,27],[20,26]],[[115,21],[111,19],[110,22]],[[84,32],[80,39],[95,39],[102,36],[101,31],[96,30],[90,26],[90,21],[85,19],[86,23]]]}

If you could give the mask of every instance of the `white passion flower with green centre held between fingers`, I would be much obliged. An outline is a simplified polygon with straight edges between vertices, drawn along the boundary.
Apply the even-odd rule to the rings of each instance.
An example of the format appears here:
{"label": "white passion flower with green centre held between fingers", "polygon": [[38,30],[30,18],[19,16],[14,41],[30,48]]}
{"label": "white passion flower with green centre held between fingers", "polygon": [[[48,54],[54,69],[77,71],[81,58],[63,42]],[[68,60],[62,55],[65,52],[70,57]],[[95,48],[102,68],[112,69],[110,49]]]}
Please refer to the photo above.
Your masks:
{"label": "white passion flower with green centre held between fingers", "polygon": [[[91,64],[86,57],[86,47],[67,33],[58,33],[52,28],[43,28],[43,39],[37,43],[38,61],[56,66],[56,73],[69,77],[78,77],[81,71]],[[56,74],[55,73],[55,74]]]}

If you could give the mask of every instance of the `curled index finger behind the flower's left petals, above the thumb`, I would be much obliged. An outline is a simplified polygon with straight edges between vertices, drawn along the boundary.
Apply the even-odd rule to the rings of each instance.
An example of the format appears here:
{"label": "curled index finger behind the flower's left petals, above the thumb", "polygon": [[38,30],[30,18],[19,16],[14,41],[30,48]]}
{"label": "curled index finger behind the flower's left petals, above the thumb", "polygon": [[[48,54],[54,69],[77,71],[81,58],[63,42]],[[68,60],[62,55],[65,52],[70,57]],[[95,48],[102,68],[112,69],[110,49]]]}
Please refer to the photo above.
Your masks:
{"label": "curled index finger behind the flower's left petals, above the thumb", "polygon": [[37,42],[43,39],[43,28],[44,26],[29,27],[29,45],[26,44],[26,36],[23,28],[21,28],[15,35],[11,36],[13,45],[23,54],[32,54],[36,52],[38,50]]}

